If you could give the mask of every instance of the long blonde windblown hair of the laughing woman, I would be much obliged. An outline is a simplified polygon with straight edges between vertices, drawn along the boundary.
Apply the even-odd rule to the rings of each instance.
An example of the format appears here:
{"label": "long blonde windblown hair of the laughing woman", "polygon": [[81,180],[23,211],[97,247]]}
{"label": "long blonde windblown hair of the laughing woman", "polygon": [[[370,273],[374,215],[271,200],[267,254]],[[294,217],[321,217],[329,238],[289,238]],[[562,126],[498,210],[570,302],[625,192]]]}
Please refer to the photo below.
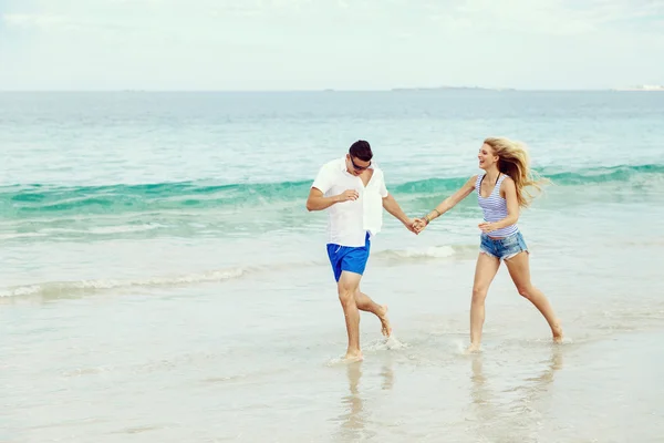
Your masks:
{"label": "long blonde windblown hair of the laughing woman", "polygon": [[498,156],[498,171],[515,182],[519,206],[528,207],[533,196],[526,188],[535,187],[541,192],[541,185],[549,183],[549,179],[537,176],[530,169],[530,156],[522,143],[505,137],[488,137],[484,143]]}

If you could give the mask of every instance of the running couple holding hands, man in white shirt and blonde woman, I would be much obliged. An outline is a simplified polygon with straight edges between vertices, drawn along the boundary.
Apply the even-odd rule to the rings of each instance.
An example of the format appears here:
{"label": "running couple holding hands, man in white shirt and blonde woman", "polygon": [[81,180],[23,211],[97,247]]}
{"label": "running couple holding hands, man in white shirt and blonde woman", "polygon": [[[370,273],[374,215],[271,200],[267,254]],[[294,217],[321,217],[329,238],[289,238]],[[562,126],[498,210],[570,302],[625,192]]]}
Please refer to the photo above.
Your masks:
{"label": "running couple holding hands, man in white shirt and blonde woman", "polygon": [[381,320],[385,337],[392,333],[387,307],[374,302],[360,290],[371,241],[382,227],[383,208],[408,230],[419,234],[473,192],[484,212],[484,223],[479,224],[481,234],[470,302],[468,351],[480,349],[485,299],[501,261],[505,261],[517,291],[532,302],[549,323],[553,340],[562,341],[562,328],[551,303],[530,281],[528,247],[517,226],[520,208],[527,207],[532,198],[526,188],[539,189],[543,182],[532,177],[528,153],[520,143],[504,137],[486,138],[477,155],[484,173],[470,177],[428,214],[414,219],[404,214],[387,192],[383,172],[372,158],[366,141],[353,143],[345,156],[321,167],[307,199],[308,210],[328,209],[329,213],[326,248],[345,316],[346,360],[362,360],[361,310],[372,312]]}

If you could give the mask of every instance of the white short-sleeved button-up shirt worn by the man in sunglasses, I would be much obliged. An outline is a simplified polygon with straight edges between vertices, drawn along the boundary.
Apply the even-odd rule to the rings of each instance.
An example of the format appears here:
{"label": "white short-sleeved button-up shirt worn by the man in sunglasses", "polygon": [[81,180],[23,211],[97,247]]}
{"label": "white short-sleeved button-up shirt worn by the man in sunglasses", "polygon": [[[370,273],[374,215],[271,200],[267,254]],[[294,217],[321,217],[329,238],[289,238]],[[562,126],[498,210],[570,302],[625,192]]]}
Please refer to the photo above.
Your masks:
{"label": "white short-sleeved button-up shirt worn by the man in sunglasses", "polygon": [[371,237],[383,226],[383,198],[387,188],[383,171],[375,164],[366,187],[362,178],[346,171],[345,156],[324,164],[311,187],[320,189],[325,197],[355,189],[356,200],[339,202],[328,208],[328,243],[341,246],[364,246],[366,233]]}

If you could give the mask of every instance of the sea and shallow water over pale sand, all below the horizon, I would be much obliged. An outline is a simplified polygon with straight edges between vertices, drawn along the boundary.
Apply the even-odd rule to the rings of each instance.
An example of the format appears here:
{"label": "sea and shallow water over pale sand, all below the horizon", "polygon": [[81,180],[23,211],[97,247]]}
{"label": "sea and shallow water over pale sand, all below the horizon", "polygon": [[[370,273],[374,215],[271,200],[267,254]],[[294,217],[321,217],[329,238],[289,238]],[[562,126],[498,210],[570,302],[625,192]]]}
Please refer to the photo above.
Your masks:
{"label": "sea and shallow water over pale sand, all below the horizon", "polygon": [[[0,94],[0,441],[657,442],[664,435],[664,94]],[[527,143],[552,184],[519,226],[550,331],[501,268],[465,356],[481,215],[385,213],[365,360],[304,202],[370,141],[423,215]]]}

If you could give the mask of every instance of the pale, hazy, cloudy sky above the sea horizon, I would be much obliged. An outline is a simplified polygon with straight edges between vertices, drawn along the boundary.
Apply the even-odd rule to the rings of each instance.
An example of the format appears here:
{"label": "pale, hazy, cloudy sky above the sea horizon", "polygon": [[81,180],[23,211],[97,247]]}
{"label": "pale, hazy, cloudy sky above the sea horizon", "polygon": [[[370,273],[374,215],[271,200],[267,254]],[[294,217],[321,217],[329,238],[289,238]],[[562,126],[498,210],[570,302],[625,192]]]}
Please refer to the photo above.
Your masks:
{"label": "pale, hazy, cloudy sky above the sea horizon", "polygon": [[0,0],[0,90],[664,84],[664,0]]}

